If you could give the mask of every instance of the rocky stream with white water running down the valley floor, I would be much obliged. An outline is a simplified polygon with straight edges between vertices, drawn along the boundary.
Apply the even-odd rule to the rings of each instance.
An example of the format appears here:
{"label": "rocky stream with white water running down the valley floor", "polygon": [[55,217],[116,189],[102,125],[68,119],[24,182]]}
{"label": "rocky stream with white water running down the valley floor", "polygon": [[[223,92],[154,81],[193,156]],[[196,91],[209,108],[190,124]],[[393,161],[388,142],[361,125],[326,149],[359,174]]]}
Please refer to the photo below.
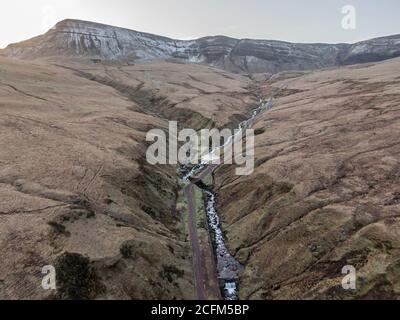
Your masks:
{"label": "rocky stream with white water running down the valley floor", "polygon": [[[240,123],[239,131],[236,132],[235,135],[232,135],[230,139],[228,139],[228,141],[226,141],[224,145],[218,149],[224,148],[228,144],[233,144],[236,137],[242,137],[241,134],[243,134],[243,132],[253,124],[255,118],[261,112],[272,108],[272,100],[272,97],[267,101],[260,99],[259,105],[255,110],[253,110],[251,118]],[[215,151],[216,150],[212,150],[206,157],[203,158],[206,160],[203,160],[200,164],[194,166],[183,176],[183,179],[189,181],[190,178],[194,178],[197,174],[202,172],[207,165],[211,163]],[[203,189],[203,191],[207,197],[206,212],[208,224],[212,231],[211,236],[214,240],[218,279],[223,284],[223,296],[226,300],[236,300],[238,298],[236,281],[239,278],[239,275],[243,272],[243,266],[230,254],[225,245],[224,233],[222,232],[220,219],[216,209],[217,206],[215,193],[209,189]]]}

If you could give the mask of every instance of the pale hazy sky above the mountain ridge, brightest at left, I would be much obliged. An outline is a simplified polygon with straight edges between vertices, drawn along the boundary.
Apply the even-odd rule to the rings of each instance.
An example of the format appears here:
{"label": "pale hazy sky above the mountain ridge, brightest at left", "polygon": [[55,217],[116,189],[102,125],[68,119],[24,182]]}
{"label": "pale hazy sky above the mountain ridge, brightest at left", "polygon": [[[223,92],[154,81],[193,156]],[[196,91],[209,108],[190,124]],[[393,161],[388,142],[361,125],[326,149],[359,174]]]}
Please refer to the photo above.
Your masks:
{"label": "pale hazy sky above the mountain ridge, brightest at left", "polygon": [[[342,28],[353,5],[355,30]],[[57,21],[101,22],[177,39],[206,35],[293,42],[356,42],[400,33],[399,0],[2,0],[0,48]]]}

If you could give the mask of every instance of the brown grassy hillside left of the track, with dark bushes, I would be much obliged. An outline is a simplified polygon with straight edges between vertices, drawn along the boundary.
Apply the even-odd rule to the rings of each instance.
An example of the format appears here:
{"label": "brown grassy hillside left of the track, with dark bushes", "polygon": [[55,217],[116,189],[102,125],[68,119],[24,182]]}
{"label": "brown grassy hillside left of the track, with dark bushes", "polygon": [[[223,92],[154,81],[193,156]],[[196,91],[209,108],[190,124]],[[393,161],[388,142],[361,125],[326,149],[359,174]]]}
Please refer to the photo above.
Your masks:
{"label": "brown grassy hillside left of the track, with dark bushes", "polygon": [[[246,117],[249,78],[166,62],[0,60],[1,297],[194,298],[176,167],[149,165],[145,136],[167,118],[200,129]],[[56,296],[40,286],[45,265],[62,270]]]}

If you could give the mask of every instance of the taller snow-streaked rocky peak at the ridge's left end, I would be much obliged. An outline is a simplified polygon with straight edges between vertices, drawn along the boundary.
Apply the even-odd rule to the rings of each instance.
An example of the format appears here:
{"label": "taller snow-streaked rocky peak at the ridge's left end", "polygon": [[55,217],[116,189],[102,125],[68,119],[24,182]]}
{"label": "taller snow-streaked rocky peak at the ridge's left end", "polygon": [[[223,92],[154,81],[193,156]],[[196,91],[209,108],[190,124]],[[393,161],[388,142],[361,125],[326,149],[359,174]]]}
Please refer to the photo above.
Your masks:
{"label": "taller snow-streaked rocky peak at the ridge's left end", "polygon": [[102,59],[159,59],[190,47],[147,33],[79,20],[64,20],[43,36],[10,45],[6,52],[20,58],[88,56]]}

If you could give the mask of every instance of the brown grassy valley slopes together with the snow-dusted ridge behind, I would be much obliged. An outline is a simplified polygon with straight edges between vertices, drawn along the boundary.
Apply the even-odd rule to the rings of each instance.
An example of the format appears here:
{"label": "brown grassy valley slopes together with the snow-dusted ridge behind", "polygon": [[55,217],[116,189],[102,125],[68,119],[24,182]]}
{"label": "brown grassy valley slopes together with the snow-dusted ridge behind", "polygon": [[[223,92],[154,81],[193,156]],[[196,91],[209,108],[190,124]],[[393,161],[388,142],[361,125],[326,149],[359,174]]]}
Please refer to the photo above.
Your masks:
{"label": "brown grassy valley slopes together with the snow-dusted ridge behind", "polygon": [[[64,20],[0,50],[0,299],[220,298],[226,264],[240,299],[398,299],[399,39],[184,41]],[[149,130],[237,128],[272,95],[254,172],[200,170],[208,198],[146,160]]]}

